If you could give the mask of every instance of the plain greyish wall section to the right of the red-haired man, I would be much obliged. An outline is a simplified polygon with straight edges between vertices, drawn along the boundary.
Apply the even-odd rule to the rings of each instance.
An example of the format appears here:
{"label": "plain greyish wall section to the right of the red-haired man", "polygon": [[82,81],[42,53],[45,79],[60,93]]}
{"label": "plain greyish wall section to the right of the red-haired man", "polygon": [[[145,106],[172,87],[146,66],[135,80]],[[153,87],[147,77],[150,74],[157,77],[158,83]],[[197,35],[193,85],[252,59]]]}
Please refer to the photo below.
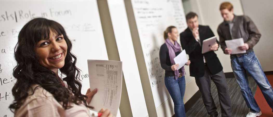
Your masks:
{"label": "plain greyish wall section to the right of the red-haired man", "polygon": [[245,15],[249,16],[262,37],[254,46],[254,52],[259,59],[263,71],[273,71],[273,1],[272,0],[241,0]]}

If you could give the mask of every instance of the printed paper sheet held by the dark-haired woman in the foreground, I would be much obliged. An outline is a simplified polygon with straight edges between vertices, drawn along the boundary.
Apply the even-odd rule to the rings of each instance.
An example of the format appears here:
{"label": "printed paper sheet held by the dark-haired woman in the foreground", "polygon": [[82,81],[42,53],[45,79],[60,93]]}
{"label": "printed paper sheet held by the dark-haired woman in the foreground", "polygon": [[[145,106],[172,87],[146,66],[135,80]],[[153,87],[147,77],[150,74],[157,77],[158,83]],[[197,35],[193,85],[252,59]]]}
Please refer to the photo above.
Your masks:
{"label": "printed paper sheet held by the dark-haired woman in the foreground", "polygon": [[91,91],[97,93],[90,102],[94,111],[109,109],[117,116],[121,98],[122,62],[107,60],[87,60]]}

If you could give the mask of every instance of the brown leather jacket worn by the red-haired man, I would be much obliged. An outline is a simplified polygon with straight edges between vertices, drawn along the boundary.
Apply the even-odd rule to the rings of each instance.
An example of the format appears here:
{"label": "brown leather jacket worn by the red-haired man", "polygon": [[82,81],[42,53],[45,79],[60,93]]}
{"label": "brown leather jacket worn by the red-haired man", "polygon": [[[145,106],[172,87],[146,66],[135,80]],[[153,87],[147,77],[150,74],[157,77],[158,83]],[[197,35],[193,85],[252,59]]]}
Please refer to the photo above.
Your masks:
{"label": "brown leather jacket worn by the red-haired man", "polygon": [[[225,40],[243,38],[244,43],[249,45],[249,49],[247,53],[253,51],[253,46],[258,43],[261,34],[257,27],[255,26],[254,22],[248,16],[235,16],[232,20],[233,27],[231,29],[232,37],[230,35],[229,23],[224,21],[222,22],[217,29],[219,40],[221,44],[221,48],[225,53],[225,48],[227,48],[225,44]],[[243,54],[237,54],[236,56],[241,56]]]}

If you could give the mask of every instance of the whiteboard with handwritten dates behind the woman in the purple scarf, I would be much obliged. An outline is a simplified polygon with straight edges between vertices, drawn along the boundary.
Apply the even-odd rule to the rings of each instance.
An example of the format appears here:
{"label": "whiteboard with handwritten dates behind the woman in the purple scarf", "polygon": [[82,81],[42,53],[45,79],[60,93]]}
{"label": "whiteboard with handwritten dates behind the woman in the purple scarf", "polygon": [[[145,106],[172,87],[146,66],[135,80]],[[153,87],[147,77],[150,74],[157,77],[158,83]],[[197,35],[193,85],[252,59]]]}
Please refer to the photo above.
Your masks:
{"label": "whiteboard with handwritten dates behind the woman in the purple scarf", "polygon": [[181,0],[132,0],[132,7],[157,108],[170,98],[164,83],[165,70],[159,60],[159,49],[165,43],[163,32],[171,25],[179,32],[184,31],[185,13]]}

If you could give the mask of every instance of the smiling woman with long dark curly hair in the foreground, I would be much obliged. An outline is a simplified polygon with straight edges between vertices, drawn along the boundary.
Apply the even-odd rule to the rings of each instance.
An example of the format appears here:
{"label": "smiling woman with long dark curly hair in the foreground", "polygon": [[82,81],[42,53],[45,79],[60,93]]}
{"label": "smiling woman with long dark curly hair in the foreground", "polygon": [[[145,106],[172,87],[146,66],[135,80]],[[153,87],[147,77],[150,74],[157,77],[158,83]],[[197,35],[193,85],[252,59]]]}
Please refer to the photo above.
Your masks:
{"label": "smiling woman with long dark curly hair in the foreground", "polygon": [[[29,21],[18,35],[14,49],[17,79],[10,109],[14,116],[91,116],[88,106],[97,89],[81,94],[77,58],[72,43],[59,23],[37,18]],[[66,77],[60,79],[58,71]],[[65,82],[64,82],[65,81]],[[109,110],[102,117],[112,117]]]}

